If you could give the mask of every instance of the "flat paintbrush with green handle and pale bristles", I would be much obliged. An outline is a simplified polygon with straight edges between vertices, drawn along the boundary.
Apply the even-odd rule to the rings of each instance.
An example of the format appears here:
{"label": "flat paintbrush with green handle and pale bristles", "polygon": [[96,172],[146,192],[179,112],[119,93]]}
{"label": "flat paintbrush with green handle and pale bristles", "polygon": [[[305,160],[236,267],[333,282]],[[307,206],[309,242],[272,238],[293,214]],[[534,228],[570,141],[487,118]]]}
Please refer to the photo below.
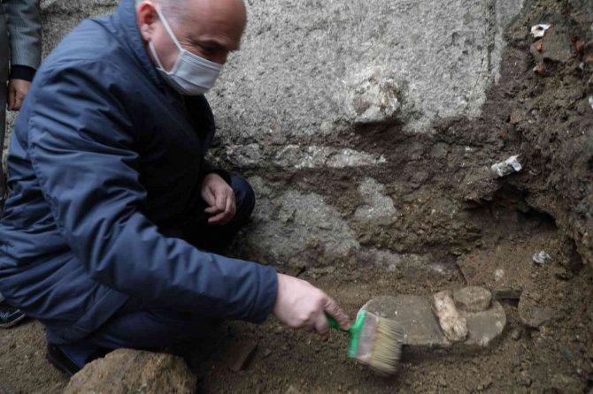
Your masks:
{"label": "flat paintbrush with green handle and pale bristles", "polygon": [[404,331],[396,321],[361,310],[350,330],[343,330],[329,315],[327,322],[332,329],[350,333],[348,357],[382,375],[396,373],[404,343]]}

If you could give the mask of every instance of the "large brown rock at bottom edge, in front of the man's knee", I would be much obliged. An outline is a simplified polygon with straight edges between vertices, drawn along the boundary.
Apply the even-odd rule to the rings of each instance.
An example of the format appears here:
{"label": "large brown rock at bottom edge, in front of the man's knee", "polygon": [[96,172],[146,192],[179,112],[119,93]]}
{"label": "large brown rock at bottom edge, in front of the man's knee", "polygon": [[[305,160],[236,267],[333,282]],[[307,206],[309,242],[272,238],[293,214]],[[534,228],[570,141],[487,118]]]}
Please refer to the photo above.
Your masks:
{"label": "large brown rock at bottom edge, in front of the man's knee", "polygon": [[192,394],[196,376],[180,357],[119,349],[70,379],[64,394]]}

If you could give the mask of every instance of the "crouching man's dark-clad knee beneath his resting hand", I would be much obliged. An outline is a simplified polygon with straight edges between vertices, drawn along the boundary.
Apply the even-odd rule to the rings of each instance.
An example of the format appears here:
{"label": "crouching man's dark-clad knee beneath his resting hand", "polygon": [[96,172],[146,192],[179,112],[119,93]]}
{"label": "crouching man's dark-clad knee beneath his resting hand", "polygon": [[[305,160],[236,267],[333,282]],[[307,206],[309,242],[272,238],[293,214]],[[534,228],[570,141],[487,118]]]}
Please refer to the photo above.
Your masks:
{"label": "crouching man's dark-clad knee beneath his resting hand", "polygon": [[[233,219],[224,225],[208,224],[208,215],[198,217],[195,223],[184,229],[184,238],[200,249],[221,253],[233,237],[247,224],[255,207],[255,193],[243,177],[231,177],[231,187],[235,192],[236,210]],[[204,204],[205,208],[205,204]],[[200,208],[203,213],[204,208]]]}

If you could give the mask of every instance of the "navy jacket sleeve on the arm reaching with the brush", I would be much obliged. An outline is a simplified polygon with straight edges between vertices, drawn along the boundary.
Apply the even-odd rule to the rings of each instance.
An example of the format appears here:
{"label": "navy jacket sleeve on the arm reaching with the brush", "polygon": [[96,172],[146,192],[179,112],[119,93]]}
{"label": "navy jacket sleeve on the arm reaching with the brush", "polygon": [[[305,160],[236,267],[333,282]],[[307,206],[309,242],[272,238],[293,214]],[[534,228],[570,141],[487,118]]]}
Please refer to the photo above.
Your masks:
{"label": "navy jacket sleeve on the arm reaching with the brush", "polygon": [[119,292],[151,306],[262,322],[275,301],[274,269],[166,238],[142,215],[130,90],[123,77],[106,83],[116,72],[105,68],[87,63],[42,76],[31,103],[28,153],[59,231],[89,275]]}

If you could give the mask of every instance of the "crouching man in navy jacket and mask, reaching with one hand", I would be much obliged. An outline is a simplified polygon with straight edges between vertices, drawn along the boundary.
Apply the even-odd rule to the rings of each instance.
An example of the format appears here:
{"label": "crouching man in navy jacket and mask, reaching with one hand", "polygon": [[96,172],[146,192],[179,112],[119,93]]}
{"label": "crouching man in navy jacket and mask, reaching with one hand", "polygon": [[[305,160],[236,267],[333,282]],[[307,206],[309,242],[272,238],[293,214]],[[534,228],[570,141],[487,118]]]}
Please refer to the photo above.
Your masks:
{"label": "crouching man in navy jacket and mask, reaching with one hand", "polygon": [[254,195],[204,159],[204,93],[246,23],[241,0],[123,0],[35,76],[12,134],[0,291],[68,374],[119,347],[194,341],[220,319],[327,337],[349,319],[302,280],[219,252]]}

